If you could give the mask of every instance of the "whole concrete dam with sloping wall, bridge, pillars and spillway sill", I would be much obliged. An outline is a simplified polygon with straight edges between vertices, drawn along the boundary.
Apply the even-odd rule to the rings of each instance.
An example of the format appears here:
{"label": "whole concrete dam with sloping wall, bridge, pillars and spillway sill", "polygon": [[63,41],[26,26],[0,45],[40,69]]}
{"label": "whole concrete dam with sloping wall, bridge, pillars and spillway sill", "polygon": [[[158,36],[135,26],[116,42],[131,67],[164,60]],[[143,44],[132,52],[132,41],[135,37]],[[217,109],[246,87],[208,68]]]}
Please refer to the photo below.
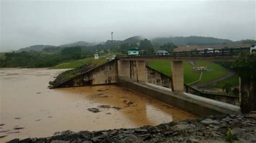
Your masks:
{"label": "whole concrete dam with sloping wall, bridge, pillars and spillway sill", "polygon": [[[220,53],[215,53],[213,50],[209,53],[173,52],[170,55],[116,56],[114,60],[52,88],[117,83],[199,117],[221,113],[240,113],[239,105],[246,98],[207,94],[185,85],[183,61],[234,61],[239,57],[239,52],[244,49],[222,49]],[[147,67],[147,60],[170,60],[172,77]],[[240,91],[243,91],[241,88],[242,86],[240,86]]]}

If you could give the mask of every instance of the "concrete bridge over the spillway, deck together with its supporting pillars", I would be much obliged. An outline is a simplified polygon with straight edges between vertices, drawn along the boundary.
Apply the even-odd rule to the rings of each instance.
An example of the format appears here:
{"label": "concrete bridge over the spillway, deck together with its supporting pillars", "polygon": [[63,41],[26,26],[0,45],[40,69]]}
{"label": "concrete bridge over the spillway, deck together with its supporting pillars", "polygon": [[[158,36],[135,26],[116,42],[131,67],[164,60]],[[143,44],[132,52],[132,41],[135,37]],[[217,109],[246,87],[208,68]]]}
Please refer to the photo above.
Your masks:
{"label": "concrete bridge over the spillway, deck together with its supporting pillars", "polygon": [[172,90],[184,91],[183,61],[234,61],[239,57],[240,52],[249,51],[250,48],[228,48],[210,51],[172,52],[169,55],[118,55],[116,56],[118,60],[118,76],[131,77],[131,75],[134,75],[134,69],[136,69],[137,77],[135,78],[137,81],[147,82],[146,60],[170,60]]}

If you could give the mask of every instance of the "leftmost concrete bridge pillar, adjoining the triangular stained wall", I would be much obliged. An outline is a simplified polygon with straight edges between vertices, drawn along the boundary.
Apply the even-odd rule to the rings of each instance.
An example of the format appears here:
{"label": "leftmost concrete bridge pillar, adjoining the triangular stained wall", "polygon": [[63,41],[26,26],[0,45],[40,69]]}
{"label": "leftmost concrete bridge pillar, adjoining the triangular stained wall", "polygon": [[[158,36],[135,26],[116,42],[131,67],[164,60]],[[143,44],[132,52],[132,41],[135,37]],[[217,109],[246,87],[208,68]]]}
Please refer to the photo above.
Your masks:
{"label": "leftmost concrete bridge pillar, adjoining the triangular stained wall", "polygon": [[118,77],[125,76],[130,77],[130,61],[117,61]]}

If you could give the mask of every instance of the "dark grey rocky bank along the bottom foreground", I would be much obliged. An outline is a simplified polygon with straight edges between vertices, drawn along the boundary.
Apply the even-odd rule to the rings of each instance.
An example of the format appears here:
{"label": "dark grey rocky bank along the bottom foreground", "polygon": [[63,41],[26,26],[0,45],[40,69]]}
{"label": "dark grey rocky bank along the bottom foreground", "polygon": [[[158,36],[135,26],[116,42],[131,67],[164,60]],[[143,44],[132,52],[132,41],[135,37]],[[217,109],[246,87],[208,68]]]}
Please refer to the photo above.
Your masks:
{"label": "dark grey rocky bank along the bottom foreground", "polygon": [[104,131],[64,131],[48,138],[9,142],[256,142],[256,113],[209,116],[158,126]]}

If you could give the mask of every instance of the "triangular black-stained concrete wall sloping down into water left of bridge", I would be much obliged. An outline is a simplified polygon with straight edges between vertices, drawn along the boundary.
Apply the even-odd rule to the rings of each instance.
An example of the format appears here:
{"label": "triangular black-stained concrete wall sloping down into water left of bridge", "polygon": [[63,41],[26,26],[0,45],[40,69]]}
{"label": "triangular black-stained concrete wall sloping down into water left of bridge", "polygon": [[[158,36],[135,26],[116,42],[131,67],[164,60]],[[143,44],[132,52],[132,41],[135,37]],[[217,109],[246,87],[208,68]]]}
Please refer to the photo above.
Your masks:
{"label": "triangular black-stained concrete wall sloping down into water left of bridge", "polygon": [[117,61],[112,60],[84,74],[71,78],[55,88],[117,83]]}

